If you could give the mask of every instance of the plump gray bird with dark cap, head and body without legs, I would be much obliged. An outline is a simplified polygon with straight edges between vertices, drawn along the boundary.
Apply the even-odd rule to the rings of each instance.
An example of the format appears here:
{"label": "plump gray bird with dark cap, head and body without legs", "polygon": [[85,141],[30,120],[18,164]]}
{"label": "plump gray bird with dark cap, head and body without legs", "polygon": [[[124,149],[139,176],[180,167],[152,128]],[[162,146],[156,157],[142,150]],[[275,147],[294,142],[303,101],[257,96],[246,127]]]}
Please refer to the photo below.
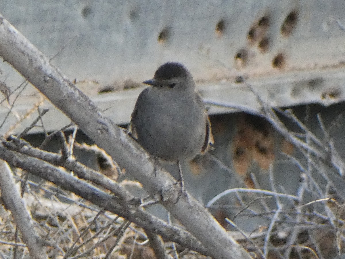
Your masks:
{"label": "plump gray bird with dark cap, head and body without legs", "polygon": [[127,132],[164,161],[193,159],[213,144],[210,121],[189,71],[181,64],[160,66],[143,83]]}

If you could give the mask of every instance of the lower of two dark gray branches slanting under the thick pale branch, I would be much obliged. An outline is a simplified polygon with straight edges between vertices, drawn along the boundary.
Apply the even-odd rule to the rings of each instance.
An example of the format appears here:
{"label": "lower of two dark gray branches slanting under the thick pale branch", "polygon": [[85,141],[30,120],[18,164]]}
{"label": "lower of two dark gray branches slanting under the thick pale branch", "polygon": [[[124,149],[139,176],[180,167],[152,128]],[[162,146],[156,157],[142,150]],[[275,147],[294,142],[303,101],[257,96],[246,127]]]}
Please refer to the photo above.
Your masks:
{"label": "lower of two dark gray branches slanting under the thick pale branch", "polygon": [[81,196],[100,208],[120,215],[142,228],[153,231],[168,240],[179,243],[201,254],[208,254],[208,251],[205,250],[201,243],[187,231],[169,226],[166,222],[150,215],[137,205],[119,203],[114,199],[114,196],[68,174],[56,166],[34,157],[28,157],[18,152],[10,151],[3,145],[0,145],[0,158],[6,160],[13,166],[55,183],[57,186]]}

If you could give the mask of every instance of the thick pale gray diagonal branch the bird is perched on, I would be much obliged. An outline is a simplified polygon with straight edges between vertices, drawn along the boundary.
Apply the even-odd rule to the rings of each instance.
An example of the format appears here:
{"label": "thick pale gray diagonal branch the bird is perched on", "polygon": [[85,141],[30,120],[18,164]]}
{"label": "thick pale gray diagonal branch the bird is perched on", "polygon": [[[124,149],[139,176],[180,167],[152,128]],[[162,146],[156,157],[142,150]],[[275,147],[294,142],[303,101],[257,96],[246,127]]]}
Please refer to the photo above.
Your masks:
{"label": "thick pale gray diagonal branch the bird is perched on", "polygon": [[104,117],[93,102],[2,15],[0,56],[72,119],[126,172],[141,182],[149,193],[160,193],[162,204],[204,244],[214,258],[251,258],[203,205],[188,193],[180,195],[175,179],[124,131]]}

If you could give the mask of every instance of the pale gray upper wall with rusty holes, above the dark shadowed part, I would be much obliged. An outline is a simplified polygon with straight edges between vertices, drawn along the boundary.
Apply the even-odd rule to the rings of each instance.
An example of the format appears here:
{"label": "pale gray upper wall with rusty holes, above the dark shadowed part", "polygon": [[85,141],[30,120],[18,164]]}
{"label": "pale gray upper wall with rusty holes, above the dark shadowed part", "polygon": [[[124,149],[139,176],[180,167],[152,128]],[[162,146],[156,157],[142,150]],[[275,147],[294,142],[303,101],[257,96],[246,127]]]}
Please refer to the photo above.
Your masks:
{"label": "pale gray upper wall with rusty holes, above the dark shadowed part", "polygon": [[[140,86],[171,60],[191,70],[204,98],[235,107],[260,107],[248,87],[235,84],[238,76],[274,106],[345,98],[342,0],[17,0],[1,1],[0,13],[98,105],[110,108],[107,115],[117,123],[129,121],[141,89],[114,90]],[[0,70],[11,89],[21,83],[7,64]],[[40,100],[32,87],[24,94],[6,126]],[[1,108],[0,116],[7,111]],[[45,118],[48,130],[68,123],[55,109],[50,114],[55,119]]]}

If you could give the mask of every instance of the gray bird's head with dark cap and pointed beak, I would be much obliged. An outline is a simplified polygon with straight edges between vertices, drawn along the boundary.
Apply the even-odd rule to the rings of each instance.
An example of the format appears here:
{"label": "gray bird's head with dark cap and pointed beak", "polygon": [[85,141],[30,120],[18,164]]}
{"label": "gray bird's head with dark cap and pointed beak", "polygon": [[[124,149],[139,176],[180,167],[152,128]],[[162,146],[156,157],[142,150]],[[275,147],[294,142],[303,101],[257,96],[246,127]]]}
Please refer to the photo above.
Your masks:
{"label": "gray bird's head with dark cap and pointed beak", "polygon": [[167,62],[161,65],[150,80],[142,82],[147,85],[160,86],[183,89],[194,89],[194,80],[188,71],[182,64],[178,62]]}

